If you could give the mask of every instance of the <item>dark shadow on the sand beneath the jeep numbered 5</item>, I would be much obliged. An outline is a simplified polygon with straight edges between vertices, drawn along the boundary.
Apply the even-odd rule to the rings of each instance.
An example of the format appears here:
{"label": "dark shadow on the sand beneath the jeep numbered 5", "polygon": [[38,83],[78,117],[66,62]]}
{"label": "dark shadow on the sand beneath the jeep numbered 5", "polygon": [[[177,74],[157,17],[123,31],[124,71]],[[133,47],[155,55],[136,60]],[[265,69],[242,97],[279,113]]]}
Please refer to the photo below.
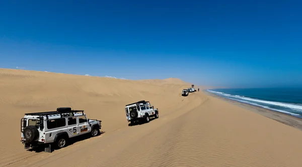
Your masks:
{"label": "dark shadow on the sand beneath the jeep numbered 5", "polygon": [[[105,133],[105,131],[100,131],[100,134],[95,136],[95,137],[98,137],[103,133]],[[75,136],[75,137],[69,138],[68,139],[68,144],[65,147],[68,147],[69,145],[72,145],[74,143],[77,143],[79,141],[83,141],[83,140],[86,140],[86,139],[89,139],[89,138],[94,138],[94,137],[92,137],[90,135],[90,133],[87,133],[87,134],[83,134],[83,135],[80,135],[80,136]],[[37,147],[30,148],[27,151],[44,152],[44,150],[45,150],[45,145],[41,144],[41,145],[38,145]],[[51,145],[51,152],[53,152],[54,150],[57,150],[57,148],[55,148],[54,146]]]}

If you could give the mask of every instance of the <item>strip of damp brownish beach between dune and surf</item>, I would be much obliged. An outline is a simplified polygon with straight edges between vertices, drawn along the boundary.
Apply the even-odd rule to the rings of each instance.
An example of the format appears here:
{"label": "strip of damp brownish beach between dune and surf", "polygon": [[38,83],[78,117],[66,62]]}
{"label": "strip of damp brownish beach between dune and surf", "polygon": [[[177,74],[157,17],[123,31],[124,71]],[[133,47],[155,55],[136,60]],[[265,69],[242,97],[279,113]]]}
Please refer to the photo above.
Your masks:
{"label": "strip of damp brownish beach between dune and surf", "polygon": [[206,90],[202,90],[202,92],[205,93],[206,95],[211,96],[211,97],[221,99],[221,100],[226,101],[228,103],[234,104],[234,105],[239,106],[241,108],[245,108],[249,111],[255,112],[257,114],[268,117],[270,119],[281,122],[283,124],[292,126],[292,127],[297,128],[297,129],[302,131],[302,119],[299,118],[299,117],[295,117],[295,116],[292,116],[290,114],[270,110],[270,109],[267,109],[267,108],[262,108],[260,106],[255,106],[255,105],[252,105],[252,104],[242,103],[242,102],[239,102],[239,101],[236,101],[236,100],[231,100],[231,99],[228,99],[228,98],[220,97],[218,95],[207,92]]}

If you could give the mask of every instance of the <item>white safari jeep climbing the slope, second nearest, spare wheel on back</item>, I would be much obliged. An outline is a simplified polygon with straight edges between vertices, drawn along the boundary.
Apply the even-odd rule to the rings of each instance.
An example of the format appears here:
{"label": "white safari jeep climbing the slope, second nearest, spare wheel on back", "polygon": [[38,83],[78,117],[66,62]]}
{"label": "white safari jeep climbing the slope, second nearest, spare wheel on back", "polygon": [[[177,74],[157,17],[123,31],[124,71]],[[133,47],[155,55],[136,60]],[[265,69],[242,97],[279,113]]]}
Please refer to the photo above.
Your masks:
{"label": "white safari jeep climbing the slope, second nearest, spare wheel on back", "polygon": [[135,103],[127,104],[125,107],[126,118],[131,121],[131,125],[135,124],[140,120],[145,122],[150,121],[150,117],[159,118],[159,109],[154,109],[154,106],[151,106],[149,101],[138,101]]}

